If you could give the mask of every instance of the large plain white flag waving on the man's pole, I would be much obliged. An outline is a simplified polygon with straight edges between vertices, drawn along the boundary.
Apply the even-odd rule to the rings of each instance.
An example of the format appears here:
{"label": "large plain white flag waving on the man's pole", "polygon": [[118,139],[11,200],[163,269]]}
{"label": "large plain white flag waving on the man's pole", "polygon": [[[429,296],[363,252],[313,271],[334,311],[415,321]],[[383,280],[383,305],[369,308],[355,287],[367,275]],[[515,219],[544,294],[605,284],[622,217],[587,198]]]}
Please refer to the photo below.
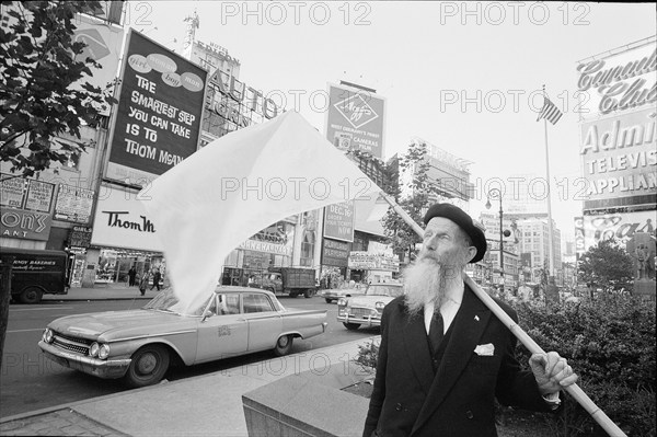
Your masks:
{"label": "large plain white flag waving on the man's pole", "polygon": [[288,216],[380,188],[293,111],[226,135],[141,191],[186,310],[217,286],[226,256]]}

